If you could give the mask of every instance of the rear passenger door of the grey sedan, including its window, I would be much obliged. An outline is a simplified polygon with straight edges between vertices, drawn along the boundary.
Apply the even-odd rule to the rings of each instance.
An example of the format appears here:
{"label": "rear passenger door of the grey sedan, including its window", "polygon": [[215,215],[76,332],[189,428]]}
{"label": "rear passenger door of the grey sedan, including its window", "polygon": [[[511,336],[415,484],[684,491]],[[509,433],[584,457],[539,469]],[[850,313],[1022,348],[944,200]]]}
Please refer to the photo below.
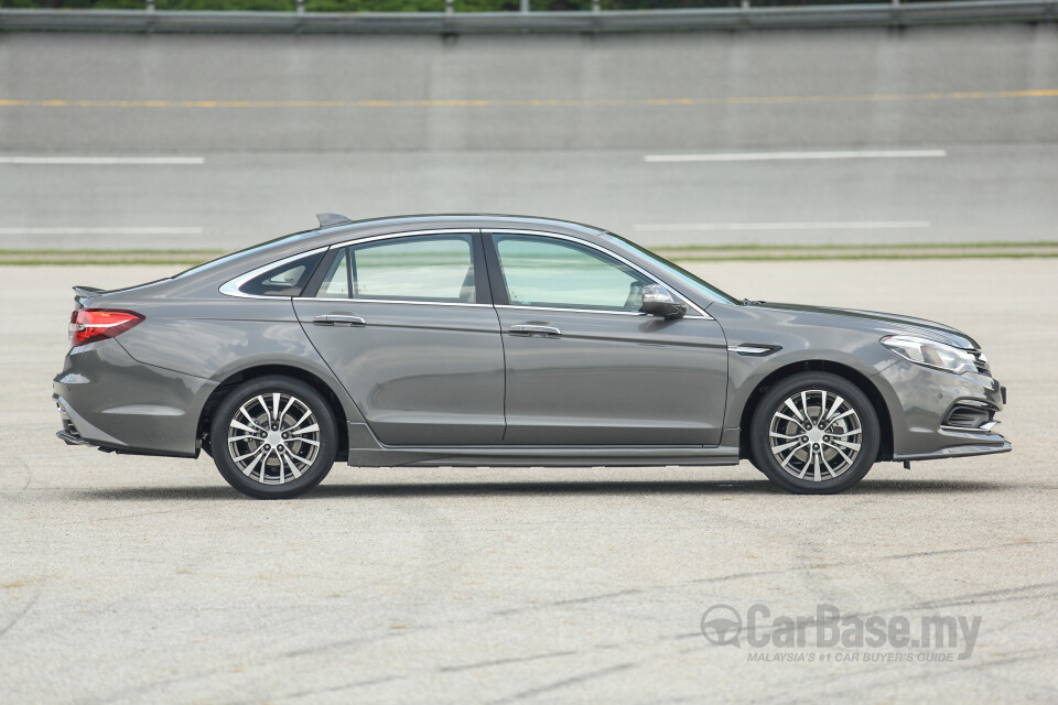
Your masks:
{"label": "rear passenger door of the grey sedan, including its window", "polygon": [[479,234],[341,248],[294,310],[375,435],[478,445],[504,435],[504,351]]}

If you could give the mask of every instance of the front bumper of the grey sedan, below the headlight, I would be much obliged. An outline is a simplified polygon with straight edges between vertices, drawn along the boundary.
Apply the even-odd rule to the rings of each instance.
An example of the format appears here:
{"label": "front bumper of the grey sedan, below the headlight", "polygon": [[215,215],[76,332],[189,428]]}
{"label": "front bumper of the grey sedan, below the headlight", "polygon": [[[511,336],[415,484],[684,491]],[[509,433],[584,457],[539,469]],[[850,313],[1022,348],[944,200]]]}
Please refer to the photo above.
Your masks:
{"label": "front bumper of the grey sedan, below the headlight", "polygon": [[[994,431],[1006,389],[987,375],[953,375],[906,360],[878,373],[893,426],[894,460],[1008,453]],[[964,425],[956,425],[964,424]]]}

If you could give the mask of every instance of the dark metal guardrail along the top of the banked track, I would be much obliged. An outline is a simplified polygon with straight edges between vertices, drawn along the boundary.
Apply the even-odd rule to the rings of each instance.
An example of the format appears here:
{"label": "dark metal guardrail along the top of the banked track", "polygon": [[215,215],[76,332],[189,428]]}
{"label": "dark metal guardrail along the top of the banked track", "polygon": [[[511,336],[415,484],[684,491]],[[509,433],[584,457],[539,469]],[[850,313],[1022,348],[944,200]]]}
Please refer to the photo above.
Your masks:
{"label": "dark metal guardrail along the top of the banked track", "polygon": [[0,9],[0,31],[228,32],[228,33],[418,33],[644,32],[680,30],[759,30],[957,24],[969,22],[1055,22],[1058,0],[975,0],[860,4],[754,6],[665,10],[533,12],[520,0],[515,12],[457,12],[443,0],[439,12],[311,12],[295,0],[289,12],[159,10]]}

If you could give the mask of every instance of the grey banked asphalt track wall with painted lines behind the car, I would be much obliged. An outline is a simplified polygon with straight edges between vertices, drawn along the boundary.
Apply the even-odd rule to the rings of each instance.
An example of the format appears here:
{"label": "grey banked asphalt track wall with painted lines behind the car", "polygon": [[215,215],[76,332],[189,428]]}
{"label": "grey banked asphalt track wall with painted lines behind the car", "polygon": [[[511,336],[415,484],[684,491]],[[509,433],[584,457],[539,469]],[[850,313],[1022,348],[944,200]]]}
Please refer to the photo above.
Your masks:
{"label": "grey banked asphalt track wall with painted lines behind the car", "polygon": [[320,212],[1056,241],[1056,184],[1054,25],[0,36],[0,249],[236,249]]}

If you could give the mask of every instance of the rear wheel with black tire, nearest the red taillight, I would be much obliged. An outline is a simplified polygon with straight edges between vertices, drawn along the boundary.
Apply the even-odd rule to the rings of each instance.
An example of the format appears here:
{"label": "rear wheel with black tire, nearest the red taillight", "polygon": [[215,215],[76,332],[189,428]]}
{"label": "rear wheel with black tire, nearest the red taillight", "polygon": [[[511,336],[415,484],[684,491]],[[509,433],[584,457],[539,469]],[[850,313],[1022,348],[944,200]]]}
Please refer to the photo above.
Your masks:
{"label": "rear wheel with black tire, nearest the red taillight", "polygon": [[209,424],[220,475],[257,499],[290,499],[323,481],[334,465],[337,437],[326,400],[291,377],[244,382],[225,398]]}

